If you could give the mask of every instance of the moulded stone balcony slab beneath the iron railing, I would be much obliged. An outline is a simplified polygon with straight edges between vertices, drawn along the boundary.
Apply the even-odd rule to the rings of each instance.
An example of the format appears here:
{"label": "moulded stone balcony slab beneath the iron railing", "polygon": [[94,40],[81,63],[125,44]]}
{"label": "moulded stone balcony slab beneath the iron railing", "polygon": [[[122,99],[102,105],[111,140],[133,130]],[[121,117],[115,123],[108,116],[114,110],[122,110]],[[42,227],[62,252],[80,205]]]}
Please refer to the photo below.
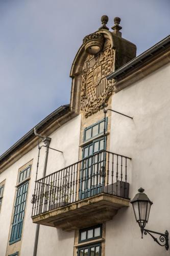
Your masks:
{"label": "moulded stone balcony slab beneath the iron railing", "polygon": [[83,200],[43,212],[32,217],[33,223],[62,228],[65,231],[85,228],[111,220],[129,199],[101,193]]}

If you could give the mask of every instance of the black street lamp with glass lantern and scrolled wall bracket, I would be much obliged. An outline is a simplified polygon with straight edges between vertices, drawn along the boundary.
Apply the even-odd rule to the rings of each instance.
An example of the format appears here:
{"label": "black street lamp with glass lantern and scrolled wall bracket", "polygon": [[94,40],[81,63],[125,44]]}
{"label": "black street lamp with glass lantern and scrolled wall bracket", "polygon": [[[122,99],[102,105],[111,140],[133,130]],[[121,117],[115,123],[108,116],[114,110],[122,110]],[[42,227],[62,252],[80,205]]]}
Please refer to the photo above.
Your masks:
{"label": "black street lamp with glass lantern and scrolled wall bracket", "polygon": [[[153,202],[148,198],[146,194],[144,194],[144,189],[139,188],[139,193],[136,194],[136,196],[132,199],[131,204],[133,205],[133,210],[135,214],[135,218],[137,223],[139,224],[141,234],[143,238],[143,232],[144,234],[150,234],[150,236],[154,239],[154,241],[159,244],[160,246],[165,246],[166,250],[169,248],[168,244],[168,231],[166,230],[165,233],[155,232],[149,229],[145,229],[145,225],[148,223],[149,215],[150,215],[150,209]],[[157,238],[153,236],[153,234],[159,234],[159,241]]]}

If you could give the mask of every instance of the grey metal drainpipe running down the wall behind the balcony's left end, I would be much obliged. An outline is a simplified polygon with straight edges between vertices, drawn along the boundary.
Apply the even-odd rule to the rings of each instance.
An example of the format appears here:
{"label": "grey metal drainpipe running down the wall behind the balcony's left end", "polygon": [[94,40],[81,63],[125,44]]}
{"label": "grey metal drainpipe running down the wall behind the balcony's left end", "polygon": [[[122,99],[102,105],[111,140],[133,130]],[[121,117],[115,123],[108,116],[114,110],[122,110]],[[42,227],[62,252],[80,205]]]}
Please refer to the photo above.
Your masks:
{"label": "grey metal drainpipe running down the wall behind the balcony's left end", "polygon": [[[42,139],[42,142],[44,142],[45,146],[46,146],[46,151],[45,151],[45,161],[44,161],[44,169],[43,169],[43,174],[42,174],[42,178],[45,177],[46,174],[46,166],[47,166],[47,160],[48,160],[48,150],[49,150],[49,146],[50,146],[50,142],[51,142],[51,138],[49,137],[43,137],[40,134],[36,133],[36,129],[34,129],[34,134],[36,136],[38,136],[39,138]],[[38,247],[38,237],[39,237],[39,225],[37,224],[36,226],[36,231],[35,231],[35,241],[34,241],[34,251],[33,251],[33,256],[37,255],[37,247]]]}

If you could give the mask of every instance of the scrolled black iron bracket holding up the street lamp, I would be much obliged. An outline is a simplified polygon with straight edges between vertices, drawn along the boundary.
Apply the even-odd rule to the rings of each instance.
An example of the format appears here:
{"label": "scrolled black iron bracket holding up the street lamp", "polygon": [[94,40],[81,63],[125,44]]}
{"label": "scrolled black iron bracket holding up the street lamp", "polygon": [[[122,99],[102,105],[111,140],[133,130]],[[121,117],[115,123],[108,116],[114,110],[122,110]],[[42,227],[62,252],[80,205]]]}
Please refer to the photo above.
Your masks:
{"label": "scrolled black iron bracket holding up the street lamp", "polygon": [[[150,236],[153,238],[153,240],[159,244],[160,246],[165,246],[166,250],[169,249],[169,243],[168,243],[168,231],[166,230],[165,233],[160,233],[160,232],[156,232],[156,231],[152,231],[149,229],[143,229],[144,234],[150,234]],[[154,234],[158,234],[159,235],[159,239],[157,239],[156,237],[153,236]]]}

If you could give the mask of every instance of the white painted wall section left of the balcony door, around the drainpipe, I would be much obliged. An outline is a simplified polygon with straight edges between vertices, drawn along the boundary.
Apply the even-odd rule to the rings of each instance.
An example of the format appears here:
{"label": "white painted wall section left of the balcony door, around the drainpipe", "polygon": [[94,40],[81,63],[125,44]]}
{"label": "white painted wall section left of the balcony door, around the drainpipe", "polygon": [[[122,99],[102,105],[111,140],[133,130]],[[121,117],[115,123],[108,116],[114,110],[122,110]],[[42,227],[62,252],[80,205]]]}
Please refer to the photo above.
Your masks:
{"label": "white painted wall section left of the balcony door, around the drainpipe", "polygon": [[[50,151],[47,174],[78,161],[79,154],[79,139],[80,139],[80,124],[81,116],[71,119],[66,124],[62,125],[51,136],[51,145],[54,148],[63,151],[63,154],[55,151]],[[40,144],[42,145],[42,143]],[[44,148],[41,150],[38,178],[42,177],[43,163],[44,163]],[[25,220],[22,229],[22,244],[21,256],[33,255],[34,239],[36,224],[32,223],[32,194],[34,193],[34,182],[36,177],[36,165],[38,157],[38,148],[28,152],[25,156],[20,158],[17,162],[11,165],[0,175],[0,183],[6,179],[3,203],[0,212],[0,255],[6,255],[6,248],[8,243],[9,229],[11,223],[12,209],[14,204],[14,196],[16,191],[18,169],[33,159],[33,166],[31,171],[31,180],[29,183],[29,193],[27,198],[27,206],[25,211]],[[66,245],[66,246],[65,246]],[[39,242],[37,256],[41,255],[72,255],[74,245],[74,232],[64,232],[52,227],[40,227]],[[72,252],[71,252],[72,251]]]}

